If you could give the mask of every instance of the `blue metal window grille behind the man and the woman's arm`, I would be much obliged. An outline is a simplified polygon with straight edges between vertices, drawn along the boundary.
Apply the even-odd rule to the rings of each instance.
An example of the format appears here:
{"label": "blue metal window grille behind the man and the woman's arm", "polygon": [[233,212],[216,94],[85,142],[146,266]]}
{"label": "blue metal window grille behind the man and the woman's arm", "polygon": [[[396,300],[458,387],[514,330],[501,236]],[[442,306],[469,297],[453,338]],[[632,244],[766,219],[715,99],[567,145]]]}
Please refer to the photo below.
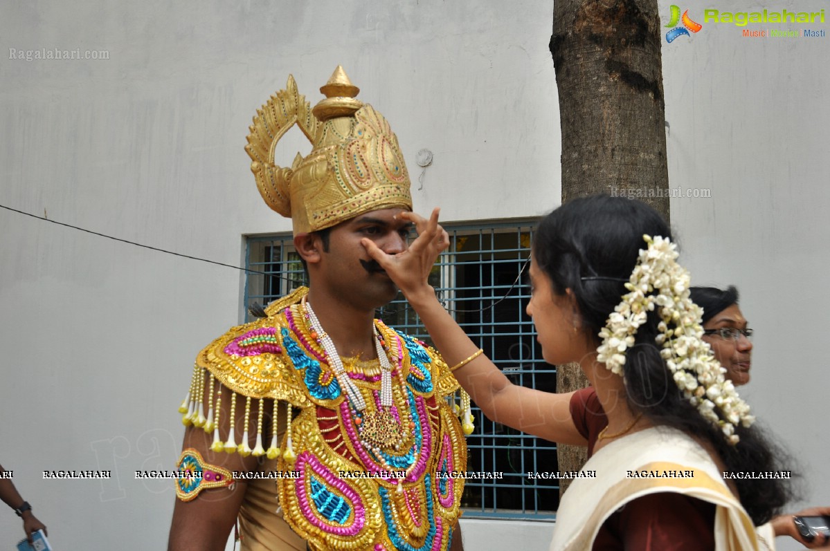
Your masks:
{"label": "blue metal window grille behind the man and the woman's arm", "polygon": [[[515,384],[555,391],[556,369],[542,359],[533,323],[525,313],[525,284],[535,220],[444,225],[450,248],[432,269],[430,283],[467,335]],[[306,284],[291,234],[247,239],[245,306],[267,304]],[[251,314],[248,314],[252,319]],[[403,296],[380,308],[378,318],[430,341]],[[475,405],[475,404],[474,404]],[[501,472],[501,479],[466,481],[466,518],[546,520],[559,507],[556,480],[529,472],[558,470],[556,444],[493,423],[473,408],[476,431],[467,437],[468,471]]]}

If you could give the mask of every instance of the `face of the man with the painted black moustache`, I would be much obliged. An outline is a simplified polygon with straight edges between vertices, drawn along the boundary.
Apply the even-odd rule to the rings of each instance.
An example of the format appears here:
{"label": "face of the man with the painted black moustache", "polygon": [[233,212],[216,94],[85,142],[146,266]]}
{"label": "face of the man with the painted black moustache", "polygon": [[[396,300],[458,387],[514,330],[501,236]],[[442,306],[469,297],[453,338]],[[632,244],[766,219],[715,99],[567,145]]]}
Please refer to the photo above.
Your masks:
{"label": "face of the man with the painted black moustache", "polygon": [[403,209],[373,210],[334,226],[329,234],[328,251],[321,254],[314,286],[325,285],[333,296],[354,307],[374,310],[391,301],[398,288],[378,266],[360,239],[371,239],[386,254],[408,248],[411,222],[395,215]]}

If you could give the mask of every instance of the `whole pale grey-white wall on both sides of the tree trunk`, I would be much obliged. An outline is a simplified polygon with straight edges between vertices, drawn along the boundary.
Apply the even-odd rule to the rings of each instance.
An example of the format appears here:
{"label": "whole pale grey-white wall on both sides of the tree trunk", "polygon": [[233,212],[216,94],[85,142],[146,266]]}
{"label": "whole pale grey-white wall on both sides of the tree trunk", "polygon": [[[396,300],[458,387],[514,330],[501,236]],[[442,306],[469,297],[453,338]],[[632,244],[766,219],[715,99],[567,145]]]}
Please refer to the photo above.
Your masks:
{"label": "whole pale grey-white wall on both sides of the tree trunk", "polygon": [[[256,192],[242,150],[251,116],[289,73],[315,102],[342,63],[398,133],[416,210],[540,215],[560,193],[551,20],[547,0],[6,7],[0,205],[238,265],[242,235],[290,228]],[[830,447],[803,421],[827,418],[819,350],[830,301],[817,253],[828,233],[830,42],[734,32],[706,26],[664,46],[671,179],[712,189],[710,200],[673,200],[672,220],[692,273],[706,274],[697,282],[739,285],[759,334],[750,399],[803,465],[808,501],[828,501],[819,473]],[[9,48],[110,59],[27,62],[7,59]],[[298,147],[309,148],[295,138],[281,158]],[[434,160],[417,191],[422,147]],[[57,549],[88,548],[90,534],[96,548],[164,549],[172,487],[132,473],[178,454],[193,357],[239,321],[240,282],[231,268],[0,209],[0,463]],[[119,478],[39,479],[59,468]],[[523,526],[469,534],[491,527],[545,549],[549,535]],[[19,530],[0,513],[0,534],[13,534],[3,539]]]}

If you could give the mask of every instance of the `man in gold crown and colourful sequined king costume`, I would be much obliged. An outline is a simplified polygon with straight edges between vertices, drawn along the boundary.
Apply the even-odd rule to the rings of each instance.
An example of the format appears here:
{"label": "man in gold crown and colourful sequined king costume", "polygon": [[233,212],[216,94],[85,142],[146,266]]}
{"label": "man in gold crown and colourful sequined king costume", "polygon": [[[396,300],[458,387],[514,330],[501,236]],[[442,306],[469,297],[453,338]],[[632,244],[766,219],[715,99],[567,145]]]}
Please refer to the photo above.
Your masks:
{"label": "man in gold crown and colourful sequined king costume", "polygon": [[[403,155],[342,67],[320,91],[311,109],[289,77],[250,128],[257,186],[291,217],[310,285],[198,355],[172,551],[224,549],[237,516],[247,551],[461,549],[463,481],[440,475],[466,470],[468,406],[462,429],[440,355],[373,319],[397,288],[360,244],[408,247]],[[278,167],[294,124],[314,147]]]}

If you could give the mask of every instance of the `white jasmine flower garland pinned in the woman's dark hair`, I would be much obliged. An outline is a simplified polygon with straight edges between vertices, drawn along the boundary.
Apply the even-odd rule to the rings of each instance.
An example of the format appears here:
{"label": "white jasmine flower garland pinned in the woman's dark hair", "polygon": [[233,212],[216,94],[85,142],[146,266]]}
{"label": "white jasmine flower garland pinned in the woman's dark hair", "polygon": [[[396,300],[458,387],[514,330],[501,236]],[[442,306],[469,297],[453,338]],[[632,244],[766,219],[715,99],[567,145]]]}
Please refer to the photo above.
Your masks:
{"label": "white jasmine flower garland pinned in the woman's dark hair", "polygon": [[662,347],[660,355],[677,387],[706,420],[736,444],[735,427],[738,423],[749,427],[754,417],[703,340],[703,310],[691,302],[689,272],[677,263],[677,247],[670,239],[649,235],[642,239],[648,248],[640,250],[637,266],[625,284],[628,292],[599,331],[603,342],[597,349],[598,360],[622,376],[626,350],[634,346],[637,328],[645,323],[647,312],[657,308],[661,321],[655,341]]}

